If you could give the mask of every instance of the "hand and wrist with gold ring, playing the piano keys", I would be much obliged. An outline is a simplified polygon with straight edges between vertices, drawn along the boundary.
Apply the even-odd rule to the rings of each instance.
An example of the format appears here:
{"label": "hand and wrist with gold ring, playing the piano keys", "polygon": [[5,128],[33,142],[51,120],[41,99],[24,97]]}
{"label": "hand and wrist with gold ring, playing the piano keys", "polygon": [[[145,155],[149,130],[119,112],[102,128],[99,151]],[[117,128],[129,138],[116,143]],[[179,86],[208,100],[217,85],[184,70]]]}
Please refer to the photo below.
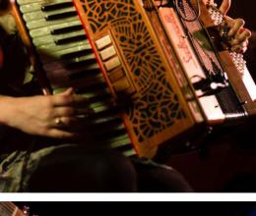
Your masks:
{"label": "hand and wrist with gold ring, playing the piano keys", "polygon": [[83,121],[78,115],[92,113],[88,100],[74,94],[72,88],[56,95],[8,97],[1,105],[6,125],[30,135],[54,138],[77,136],[76,128]]}

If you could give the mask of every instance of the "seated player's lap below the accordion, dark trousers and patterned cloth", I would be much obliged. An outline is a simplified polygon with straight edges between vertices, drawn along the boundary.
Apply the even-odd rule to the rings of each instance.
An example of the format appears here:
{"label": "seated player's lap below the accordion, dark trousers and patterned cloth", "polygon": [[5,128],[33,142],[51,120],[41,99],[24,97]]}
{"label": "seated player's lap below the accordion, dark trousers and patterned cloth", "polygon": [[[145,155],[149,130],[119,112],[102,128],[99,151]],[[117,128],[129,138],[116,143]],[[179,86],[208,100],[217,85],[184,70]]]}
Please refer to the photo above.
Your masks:
{"label": "seated player's lap below the accordion, dark trousers and patterned cloth", "polygon": [[170,167],[152,160],[130,160],[108,148],[65,144],[40,149],[30,156],[18,152],[2,162],[1,168],[1,191],[192,191],[182,175]]}

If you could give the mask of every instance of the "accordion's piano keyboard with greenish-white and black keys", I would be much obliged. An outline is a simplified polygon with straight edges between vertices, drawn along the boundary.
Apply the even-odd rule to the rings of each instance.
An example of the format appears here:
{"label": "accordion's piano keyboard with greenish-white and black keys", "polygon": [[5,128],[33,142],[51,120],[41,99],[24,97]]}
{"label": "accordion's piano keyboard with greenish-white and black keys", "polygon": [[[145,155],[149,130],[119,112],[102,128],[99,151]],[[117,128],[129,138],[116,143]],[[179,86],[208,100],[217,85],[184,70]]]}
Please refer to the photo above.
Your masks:
{"label": "accordion's piano keyboard with greenish-white and black keys", "polygon": [[135,155],[73,1],[17,0],[17,6],[53,93],[72,86],[89,98],[96,141]]}

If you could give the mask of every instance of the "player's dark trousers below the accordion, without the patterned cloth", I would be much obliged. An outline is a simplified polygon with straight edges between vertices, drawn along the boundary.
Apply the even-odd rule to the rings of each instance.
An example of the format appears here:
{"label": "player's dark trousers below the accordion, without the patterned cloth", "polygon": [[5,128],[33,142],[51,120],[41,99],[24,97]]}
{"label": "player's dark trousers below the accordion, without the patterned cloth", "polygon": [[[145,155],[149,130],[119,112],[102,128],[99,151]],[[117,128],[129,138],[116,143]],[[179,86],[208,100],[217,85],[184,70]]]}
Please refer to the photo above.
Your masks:
{"label": "player's dark trousers below the accordion, without the patterned cloth", "polygon": [[[28,184],[34,192],[190,192],[181,174],[147,159],[130,159],[111,149],[61,149],[42,161]],[[72,157],[71,155],[76,155]]]}

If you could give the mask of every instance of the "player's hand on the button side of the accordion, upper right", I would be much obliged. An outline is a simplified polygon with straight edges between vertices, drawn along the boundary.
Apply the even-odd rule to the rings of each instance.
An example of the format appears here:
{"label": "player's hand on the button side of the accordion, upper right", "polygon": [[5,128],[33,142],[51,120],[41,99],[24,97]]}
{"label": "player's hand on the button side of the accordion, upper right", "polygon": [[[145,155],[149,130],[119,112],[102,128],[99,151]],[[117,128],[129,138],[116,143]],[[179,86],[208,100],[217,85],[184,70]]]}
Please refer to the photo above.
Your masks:
{"label": "player's hand on the button side of the accordion, upper right", "polygon": [[251,36],[251,31],[244,27],[244,20],[231,19],[226,16],[230,8],[231,0],[223,0],[220,7],[220,11],[224,15],[224,21],[229,27],[227,32],[228,43],[231,46],[231,50],[237,53],[244,53],[247,50],[248,39]]}

